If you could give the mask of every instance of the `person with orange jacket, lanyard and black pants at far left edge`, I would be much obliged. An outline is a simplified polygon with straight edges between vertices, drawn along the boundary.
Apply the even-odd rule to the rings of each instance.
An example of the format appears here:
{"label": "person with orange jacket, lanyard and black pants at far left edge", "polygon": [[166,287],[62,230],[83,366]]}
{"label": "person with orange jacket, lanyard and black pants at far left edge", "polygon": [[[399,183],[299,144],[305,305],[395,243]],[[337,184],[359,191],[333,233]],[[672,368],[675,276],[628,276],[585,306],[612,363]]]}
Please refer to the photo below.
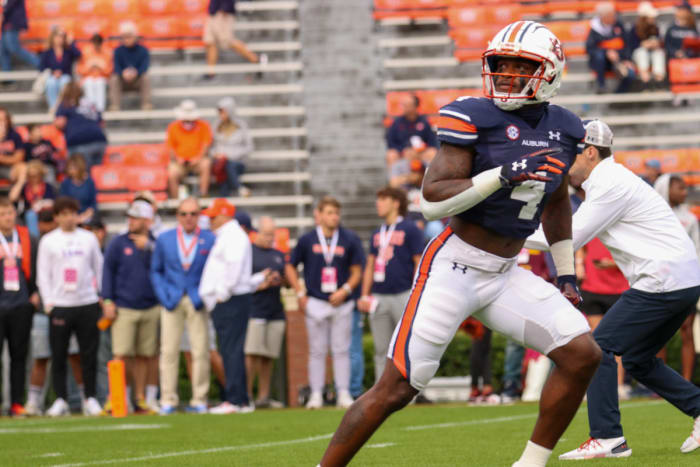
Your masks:
{"label": "person with orange jacket, lanyard and black pants at far left edge", "polygon": [[10,353],[10,415],[26,415],[24,406],[25,369],[36,292],[36,242],[26,227],[16,225],[17,212],[9,199],[0,197],[0,348],[7,340]]}

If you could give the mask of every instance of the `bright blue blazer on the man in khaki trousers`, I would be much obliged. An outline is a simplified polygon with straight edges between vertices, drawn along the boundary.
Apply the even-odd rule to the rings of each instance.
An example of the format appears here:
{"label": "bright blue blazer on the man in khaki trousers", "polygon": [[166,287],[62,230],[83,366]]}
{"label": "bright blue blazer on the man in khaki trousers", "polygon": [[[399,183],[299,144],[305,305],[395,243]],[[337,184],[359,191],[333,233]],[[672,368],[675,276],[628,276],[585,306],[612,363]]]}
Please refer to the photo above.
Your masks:
{"label": "bright blue blazer on the man in khaki trousers", "polygon": [[174,310],[184,294],[190,297],[196,309],[204,307],[199,296],[199,281],[214,240],[216,236],[211,230],[200,232],[194,261],[185,271],[177,252],[176,229],[166,230],[158,237],[151,258],[151,283],[158,301],[166,309]]}

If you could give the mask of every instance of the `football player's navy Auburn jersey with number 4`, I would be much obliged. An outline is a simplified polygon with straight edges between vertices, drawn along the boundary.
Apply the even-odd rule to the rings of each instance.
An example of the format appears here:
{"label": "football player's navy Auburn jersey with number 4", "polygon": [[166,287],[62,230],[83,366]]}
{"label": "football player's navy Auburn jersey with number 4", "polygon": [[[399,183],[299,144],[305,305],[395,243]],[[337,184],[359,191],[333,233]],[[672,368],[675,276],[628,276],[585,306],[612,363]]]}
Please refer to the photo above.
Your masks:
{"label": "football player's navy Auburn jersey with number 4", "polygon": [[472,146],[476,155],[470,177],[511,164],[526,154],[561,147],[555,157],[566,164],[561,175],[547,173],[549,182],[528,180],[512,189],[500,189],[457,217],[512,238],[527,238],[540,224],[549,196],[574,163],[577,145],[585,136],[581,119],[556,105],[543,109],[532,128],[514,112],[499,109],[491,99],[460,97],[440,109],[438,139],[457,146]]}

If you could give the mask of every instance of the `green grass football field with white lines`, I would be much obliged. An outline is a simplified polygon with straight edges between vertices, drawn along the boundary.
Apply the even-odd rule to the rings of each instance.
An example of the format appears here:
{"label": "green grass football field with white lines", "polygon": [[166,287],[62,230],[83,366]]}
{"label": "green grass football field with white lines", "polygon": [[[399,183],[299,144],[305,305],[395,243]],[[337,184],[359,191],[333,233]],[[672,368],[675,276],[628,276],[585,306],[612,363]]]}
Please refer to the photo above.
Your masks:
{"label": "green grass football field with white lines", "polygon": [[[510,466],[520,455],[537,406],[409,407],[395,414],[353,465]],[[0,465],[226,465],[315,466],[342,412],[327,409],[257,411],[245,415],[72,417],[0,420]],[[692,421],[665,402],[633,401],[622,408],[628,459],[593,465],[698,466],[700,451],[679,447]],[[580,410],[549,465],[571,465],[556,456],[587,439]],[[574,462],[574,466],[581,465]],[[588,463],[586,463],[588,465]]]}

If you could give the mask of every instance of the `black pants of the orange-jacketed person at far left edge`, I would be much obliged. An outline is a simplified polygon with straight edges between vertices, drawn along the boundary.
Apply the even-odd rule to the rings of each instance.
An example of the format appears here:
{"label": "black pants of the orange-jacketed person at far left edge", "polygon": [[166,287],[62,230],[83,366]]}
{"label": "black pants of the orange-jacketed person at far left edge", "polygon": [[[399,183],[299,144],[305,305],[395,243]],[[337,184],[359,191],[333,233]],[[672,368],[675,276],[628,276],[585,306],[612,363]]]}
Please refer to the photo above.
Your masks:
{"label": "black pants of the orange-jacketed person at far left edge", "polygon": [[7,339],[10,351],[10,402],[21,404],[24,399],[27,351],[32,332],[34,307],[29,303],[15,308],[0,309],[0,349]]}

